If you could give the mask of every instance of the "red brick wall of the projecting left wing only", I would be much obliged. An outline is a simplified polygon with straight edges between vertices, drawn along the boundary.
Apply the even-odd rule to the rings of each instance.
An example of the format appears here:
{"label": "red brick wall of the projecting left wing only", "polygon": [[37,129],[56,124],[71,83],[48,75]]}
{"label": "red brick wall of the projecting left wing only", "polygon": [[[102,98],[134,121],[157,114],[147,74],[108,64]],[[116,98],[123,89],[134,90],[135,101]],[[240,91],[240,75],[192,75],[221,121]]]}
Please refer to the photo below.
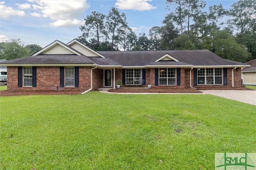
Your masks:
{"label": "red brick wall of the projecting left wing only", "polygon": [[[60,87],[60,67],[36,67],[36,87],[18,87],[18,67],[8,66],[7,67],[7,89],[8,90],[88,90],[90,89],[90,70],[92,67],[80,66],[79,67],[79,87]],[[22,72],[23,81],[23,72]],[[102,87],[103,84],[103,70],[93,70],[93,88]]]}

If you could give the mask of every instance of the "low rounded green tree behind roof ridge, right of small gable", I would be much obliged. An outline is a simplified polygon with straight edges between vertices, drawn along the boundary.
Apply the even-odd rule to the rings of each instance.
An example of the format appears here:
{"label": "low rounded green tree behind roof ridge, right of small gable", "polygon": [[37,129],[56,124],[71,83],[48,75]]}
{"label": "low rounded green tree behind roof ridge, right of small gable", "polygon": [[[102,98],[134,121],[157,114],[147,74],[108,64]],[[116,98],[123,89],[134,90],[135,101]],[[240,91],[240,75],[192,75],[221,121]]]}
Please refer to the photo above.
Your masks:
{"label": "low rounded green tree behind roof ridge, right of small gable", "polygon": [[192,43],[190,37],[186,34],[182,34],[174,39],[175,49],[177,50],[190,50],[196,49],[196,45]]}

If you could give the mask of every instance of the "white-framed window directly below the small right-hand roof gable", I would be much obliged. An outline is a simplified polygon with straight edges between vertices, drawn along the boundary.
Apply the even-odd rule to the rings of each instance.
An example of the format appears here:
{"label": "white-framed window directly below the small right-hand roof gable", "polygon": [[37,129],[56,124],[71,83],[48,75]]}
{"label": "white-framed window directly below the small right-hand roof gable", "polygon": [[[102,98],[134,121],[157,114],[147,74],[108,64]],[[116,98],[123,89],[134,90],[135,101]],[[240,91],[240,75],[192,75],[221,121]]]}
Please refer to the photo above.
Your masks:
{"label": "white-framed window directly below the small right-hand roof gable", "polygon": [[159,68],[159,85],[176,85],[176,68]]}

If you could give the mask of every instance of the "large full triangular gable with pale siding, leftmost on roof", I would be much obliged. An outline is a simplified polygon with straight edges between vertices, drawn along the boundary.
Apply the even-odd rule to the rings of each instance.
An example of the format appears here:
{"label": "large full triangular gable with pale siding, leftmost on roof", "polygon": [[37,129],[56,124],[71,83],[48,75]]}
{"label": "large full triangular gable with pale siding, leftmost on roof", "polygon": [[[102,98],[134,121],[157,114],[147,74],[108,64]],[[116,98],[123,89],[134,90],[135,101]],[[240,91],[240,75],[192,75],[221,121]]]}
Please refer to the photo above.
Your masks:
{"label": "large full triangular gable with pale siding, leftmost on roof", "polygon": [[78,51],[75,49],[72,49],[71,47],[67,46],[66,44],[56,40],[53,43],[47,45],[40,51],[34,53],[32,56],[36,55],[42,55],[42,54],[76,54],[81,55]]}

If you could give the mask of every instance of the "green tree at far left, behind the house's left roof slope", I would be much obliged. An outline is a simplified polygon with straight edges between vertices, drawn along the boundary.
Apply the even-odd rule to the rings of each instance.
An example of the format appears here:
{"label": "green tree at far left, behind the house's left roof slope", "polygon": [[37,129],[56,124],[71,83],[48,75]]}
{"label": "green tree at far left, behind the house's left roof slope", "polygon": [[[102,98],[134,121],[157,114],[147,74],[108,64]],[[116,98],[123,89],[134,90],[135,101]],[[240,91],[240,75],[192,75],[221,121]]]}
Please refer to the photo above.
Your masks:
{"label": "green tree at far left, behind the house's left roof slope", "polygon": [[30,55],[30,50],[24,47],[25,43],[20,39],[11,39],[11,42],[1,43],[0,45],[1,59],[12,60]]}

